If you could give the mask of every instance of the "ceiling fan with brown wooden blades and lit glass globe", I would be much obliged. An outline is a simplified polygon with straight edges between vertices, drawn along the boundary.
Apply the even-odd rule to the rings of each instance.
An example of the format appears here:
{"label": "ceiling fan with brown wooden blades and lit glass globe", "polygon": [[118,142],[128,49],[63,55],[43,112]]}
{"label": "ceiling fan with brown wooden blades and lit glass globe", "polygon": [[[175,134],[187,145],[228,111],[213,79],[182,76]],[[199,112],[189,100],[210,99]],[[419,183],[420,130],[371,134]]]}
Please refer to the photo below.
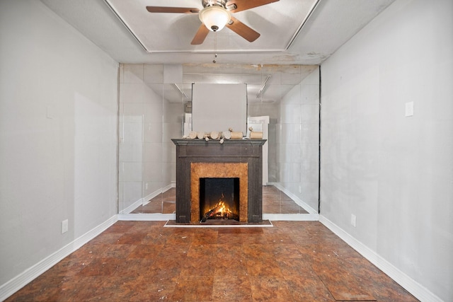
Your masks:
{"label": "ceiling fan with brown wooden blades and lit glass globe", "polygon": [[198,28],[192,45],[200,45],[210,31],[222,30],[225,26],[237,33],[248,42],[253,42],[260,36],[252,28],[249,28],[237,20],[231,13],[245,11],[250,8],[277,2],[279,0],[202,0],[203,8],[147,6],[150,13],[198,13],[202,24]]}

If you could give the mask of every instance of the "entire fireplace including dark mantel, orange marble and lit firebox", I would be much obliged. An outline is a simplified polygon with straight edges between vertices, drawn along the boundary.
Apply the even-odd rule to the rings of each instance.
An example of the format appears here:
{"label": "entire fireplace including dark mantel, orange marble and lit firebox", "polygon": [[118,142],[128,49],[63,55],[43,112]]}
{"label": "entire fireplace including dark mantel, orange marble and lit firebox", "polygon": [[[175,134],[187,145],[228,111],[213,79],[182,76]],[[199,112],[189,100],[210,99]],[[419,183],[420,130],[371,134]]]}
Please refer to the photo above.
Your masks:
{"label": "entire fireplace including dark mantel, orange marble and lit firebox", "polygon": [[[176,223],[263,221],[265,140],[229,140],[224,144],[201,139],[172,141],[176,144]],[[224,190],[225,186],[229,189]],[[207,193],[212,194],[209,201],[205,200]],[[228,219],[222,218],[224,209],[218,202],[228,203]],[[211,210],[217,214],[203,221]]]}

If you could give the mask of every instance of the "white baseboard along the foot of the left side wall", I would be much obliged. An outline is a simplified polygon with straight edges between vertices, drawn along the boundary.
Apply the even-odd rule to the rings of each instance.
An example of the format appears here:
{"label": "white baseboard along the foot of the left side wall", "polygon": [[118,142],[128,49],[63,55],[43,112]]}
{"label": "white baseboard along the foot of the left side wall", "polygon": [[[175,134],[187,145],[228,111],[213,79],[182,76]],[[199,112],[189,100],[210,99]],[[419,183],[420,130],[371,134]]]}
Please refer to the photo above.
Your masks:
{"label": "white baseboard along the foot of the left side wall", "polygon": [[18,274],[16,277],[9,280],[5,284],[2,284],[0,286],[0,301],[6,300],[6,298],[16,293],[16,291],[23,288],[23,286],[30,283],[30,281],[33,281],[33,279],[39,277],[40,274],[46,272],[47,269],[50,269],[51,267],[56,265],[59,261],[64,259],[64,257],[67,257],[69,254],[71,254],[71,252],[75,252],[76,250],[81,248],[82,245],[88,243],[89,240],[95,238],[107,228],[112,226],[113,223],[115,223],[117,220],[117,215],[112,216],[107,221],[101,223],[99,226],[96,226],[96,228],[93,228],[91,231],[86,232],[84,235],[76,238],[74,241],[68,243],[63,248],[60,248],[52,255],[45,257],[45,259],[36,263],[32,267],[25,269],[24,272]]}

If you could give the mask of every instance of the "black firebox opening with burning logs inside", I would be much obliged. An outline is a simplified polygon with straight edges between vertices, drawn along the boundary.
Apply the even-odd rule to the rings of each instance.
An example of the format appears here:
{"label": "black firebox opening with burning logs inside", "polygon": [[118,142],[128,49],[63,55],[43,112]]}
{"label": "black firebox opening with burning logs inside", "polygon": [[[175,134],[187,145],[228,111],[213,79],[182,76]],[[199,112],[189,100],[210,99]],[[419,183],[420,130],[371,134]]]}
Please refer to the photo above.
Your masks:
{"label": "black firebox opening with burning logs inside", "polygon": [[200,222],[239,221],[239,178],[200,178]]}

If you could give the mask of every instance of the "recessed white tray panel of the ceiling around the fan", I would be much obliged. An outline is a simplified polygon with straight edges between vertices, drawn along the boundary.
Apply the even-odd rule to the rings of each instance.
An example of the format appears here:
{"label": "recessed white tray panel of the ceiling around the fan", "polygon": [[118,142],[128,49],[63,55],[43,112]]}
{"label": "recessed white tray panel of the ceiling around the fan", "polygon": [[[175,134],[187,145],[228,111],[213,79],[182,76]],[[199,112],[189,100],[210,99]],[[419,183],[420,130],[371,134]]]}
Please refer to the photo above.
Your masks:
{"label": "recessed white tray panel of the ceiling around the fan", "polygon": [[201,10],[201,0],[105,1],[149,52],[212,52],[216,42],[217,49],[222,52],[282,52],[287,49],[293,35],[317,2],[282,0],[231,13],[234,18],[260,33],[254,42],[248,42],[229,28],[224,28],[217,33],[210,32],[202,45],[190,45],[201,24],[198,14],[149,13],[145,7],[152,4]]}

